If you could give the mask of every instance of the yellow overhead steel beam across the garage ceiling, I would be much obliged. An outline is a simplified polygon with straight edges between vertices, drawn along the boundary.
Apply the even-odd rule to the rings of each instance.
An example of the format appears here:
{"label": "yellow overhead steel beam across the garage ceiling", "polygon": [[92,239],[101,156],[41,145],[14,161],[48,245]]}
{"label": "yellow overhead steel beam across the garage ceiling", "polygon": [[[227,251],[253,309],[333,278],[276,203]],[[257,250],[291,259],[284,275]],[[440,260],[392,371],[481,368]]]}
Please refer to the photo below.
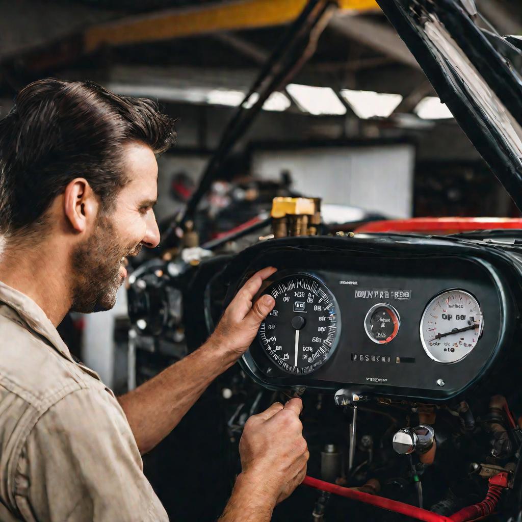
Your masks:
{"label": "yellow overhead steel beam across the garage ceiling", "polygon": [[[338,0],[339,8],[376,10],[375,0]],[[277,26],[294,20],[306,0],[238,0],[188,9],[170,9],[93,26],[84,33],[87,52],[102,45],[170,40],[197,34]]]}

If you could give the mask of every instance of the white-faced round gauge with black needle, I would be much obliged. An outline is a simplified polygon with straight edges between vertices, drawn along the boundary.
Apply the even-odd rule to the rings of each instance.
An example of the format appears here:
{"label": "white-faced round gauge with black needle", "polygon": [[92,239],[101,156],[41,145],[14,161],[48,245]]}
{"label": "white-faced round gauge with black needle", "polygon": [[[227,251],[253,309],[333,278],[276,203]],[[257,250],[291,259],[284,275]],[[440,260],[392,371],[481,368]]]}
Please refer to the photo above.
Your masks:
{"label": "white-faced round gauge with black needle", "polygon": [[482,334],[478,301],[464,290],[447,290],[432,299],[422,314],[422,346],[431,359],[450,364],[466,357]]}

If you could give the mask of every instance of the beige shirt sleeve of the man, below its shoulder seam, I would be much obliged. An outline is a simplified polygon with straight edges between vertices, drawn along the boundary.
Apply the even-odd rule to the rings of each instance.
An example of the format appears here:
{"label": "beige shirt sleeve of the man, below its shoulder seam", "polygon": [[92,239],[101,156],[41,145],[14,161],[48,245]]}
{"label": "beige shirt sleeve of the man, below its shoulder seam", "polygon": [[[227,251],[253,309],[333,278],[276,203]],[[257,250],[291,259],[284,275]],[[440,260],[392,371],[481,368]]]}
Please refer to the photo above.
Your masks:
{"label": "beige shirt sleeve of the man, below its shoulder seam", "polygon": [[167,522],[131,429],[105,390],[79,389],[34,425],[17,467],[19,513],[40,522]]}

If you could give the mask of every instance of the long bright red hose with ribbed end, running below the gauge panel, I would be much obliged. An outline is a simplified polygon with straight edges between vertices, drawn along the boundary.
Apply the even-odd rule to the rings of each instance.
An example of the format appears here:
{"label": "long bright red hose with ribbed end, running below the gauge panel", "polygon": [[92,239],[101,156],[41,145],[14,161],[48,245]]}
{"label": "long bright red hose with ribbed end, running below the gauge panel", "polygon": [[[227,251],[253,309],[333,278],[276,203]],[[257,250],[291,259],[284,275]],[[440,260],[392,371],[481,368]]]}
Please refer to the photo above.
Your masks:
{"label": "long bright red hose with ribbed end, running below the gauge panel", "polygon": [[502,489],[507,488],[508,477],[507,473],[504,472],[492,477],[489,480],[488,494],[481,503],[465,507],[449,518],[443,515],[437,515],[426,509],[421,509],[420,507],[405,504],[404,502],[397,502],[395,500],[385,499],[382,496],[370,495],[369,493],[363,493],[350,488],[343,488],[337,484],[324,482],[323,480],[314,479],[313,477],[306,476],[303,484],[321,491],[328,491],[335,495],[344,496],[347,499],[358,500],[365,504],[380,507],[381,509],[388,509],[388,511],[417,518],[417,520],[423,520],[424,522],[468,522],[493,512],[499,502]]}

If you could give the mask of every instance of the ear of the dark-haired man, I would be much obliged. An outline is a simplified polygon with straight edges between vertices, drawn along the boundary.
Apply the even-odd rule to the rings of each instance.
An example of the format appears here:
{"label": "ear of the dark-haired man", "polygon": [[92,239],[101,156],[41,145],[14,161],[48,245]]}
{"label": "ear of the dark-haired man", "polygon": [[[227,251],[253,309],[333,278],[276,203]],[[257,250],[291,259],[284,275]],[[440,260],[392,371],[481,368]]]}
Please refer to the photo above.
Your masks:
{"label": "ear of the dark-haired man", "polygon": [[78,177],[69,182],[63,202],[65,219],[76,232],[85,232],[96,221],[98,198],[85,178]]}

